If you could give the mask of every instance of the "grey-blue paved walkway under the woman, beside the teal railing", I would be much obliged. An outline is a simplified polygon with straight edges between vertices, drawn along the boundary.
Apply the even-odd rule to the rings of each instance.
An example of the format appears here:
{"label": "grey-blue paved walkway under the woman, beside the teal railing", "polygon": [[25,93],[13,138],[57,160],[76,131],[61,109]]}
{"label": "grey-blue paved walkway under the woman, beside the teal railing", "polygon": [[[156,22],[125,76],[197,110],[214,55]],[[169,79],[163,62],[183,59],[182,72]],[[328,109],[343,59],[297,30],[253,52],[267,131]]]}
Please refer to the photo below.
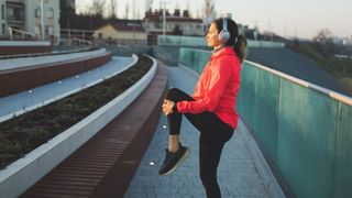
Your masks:
{"label": "grey-blue paved walkway under the woman, beside the teal railing", "polygon": [[[180,68],[168,67],[168,85],[191,94],[198,76]],[[218,180],[224,198],[267,198],[266,183],[261,178],[258,168],[251,157],[248,138],[237,130],[226,144],[218,169]],[[206,197],[199,179],[198,139],[199,132],[183,120],[182,142],[190,147],[190,157],[170,176],[160,176],[158,167],[164,161],[167,147],[168,129],[165,117],[161,117],[157,130],[147,148],[125,198],[179,198]]]}

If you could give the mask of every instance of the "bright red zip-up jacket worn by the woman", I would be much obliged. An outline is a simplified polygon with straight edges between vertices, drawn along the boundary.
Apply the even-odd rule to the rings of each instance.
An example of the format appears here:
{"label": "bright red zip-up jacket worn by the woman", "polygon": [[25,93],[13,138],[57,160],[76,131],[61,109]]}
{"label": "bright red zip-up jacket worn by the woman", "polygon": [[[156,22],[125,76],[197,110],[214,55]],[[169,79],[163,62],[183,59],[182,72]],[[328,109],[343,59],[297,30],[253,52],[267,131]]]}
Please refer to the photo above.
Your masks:
{"label": "bright red zip-up jacket worn by the woman", "polygon": [[238,127],[235,98],[240,88],[241,63],[232,47],[215,52],[199,77],[194,95],[196,101],[177,102],[180,113],[215,112],[231,128]]}

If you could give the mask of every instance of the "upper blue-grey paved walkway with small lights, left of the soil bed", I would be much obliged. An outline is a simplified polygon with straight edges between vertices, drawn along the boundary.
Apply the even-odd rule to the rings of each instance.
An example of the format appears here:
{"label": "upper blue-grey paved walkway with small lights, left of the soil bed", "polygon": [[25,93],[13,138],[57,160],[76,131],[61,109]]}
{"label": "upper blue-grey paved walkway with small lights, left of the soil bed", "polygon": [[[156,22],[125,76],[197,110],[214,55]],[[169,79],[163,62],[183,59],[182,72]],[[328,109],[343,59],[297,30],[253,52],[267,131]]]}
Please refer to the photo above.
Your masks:
{"label": "upper blue-grey paved walkway with small lights, left of the soil bed", "polygon": [[34,88],[32,90],[22,91],[15,95],[0,98],[0,122],[6,117],[25,110],[30,107],[41,106],[44,101],[53,98],[62,98],[64,96],[76,92],[82,87],[97,81],[106,76],[114,73],[121,73],[133,63],[132,57],[113,57],[111,62],[96,69],[73,76],[56,82]]}

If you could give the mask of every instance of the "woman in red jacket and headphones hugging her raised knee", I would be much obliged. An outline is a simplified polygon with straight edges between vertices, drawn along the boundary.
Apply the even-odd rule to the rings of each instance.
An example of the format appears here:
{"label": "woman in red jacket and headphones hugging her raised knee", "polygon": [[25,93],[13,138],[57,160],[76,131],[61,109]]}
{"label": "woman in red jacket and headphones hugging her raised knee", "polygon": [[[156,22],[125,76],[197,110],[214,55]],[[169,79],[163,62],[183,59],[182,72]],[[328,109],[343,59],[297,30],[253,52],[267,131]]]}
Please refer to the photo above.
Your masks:
{"label": "woman in red jacket and headphones hugging her raised knee", "polygon": [[190,151],[179,143],[183,114],[200,131],[200,179],[207,197],[221,197],[217,168],[222,147],[238,125],[235,98],[240,88],[241,63],[245,56],[246,40],[239,35],[231,19],[215,20],[206,34],[207,44],[213,47],[209,63],[197,82],[193,96],[172,88],[163,103],[169,127],[166,158],[161,175],[173,173],[188,157]]}

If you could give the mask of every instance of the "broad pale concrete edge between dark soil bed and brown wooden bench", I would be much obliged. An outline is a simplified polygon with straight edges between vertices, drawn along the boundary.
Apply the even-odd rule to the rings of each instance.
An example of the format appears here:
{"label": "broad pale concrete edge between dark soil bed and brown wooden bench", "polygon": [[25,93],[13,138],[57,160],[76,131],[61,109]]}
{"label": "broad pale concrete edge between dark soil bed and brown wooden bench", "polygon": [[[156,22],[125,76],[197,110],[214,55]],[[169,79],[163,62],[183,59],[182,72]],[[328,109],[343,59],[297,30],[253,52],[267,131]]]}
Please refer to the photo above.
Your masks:
{"label": "broad pale concrete edge between dark soil bed and brown wooden bench", "polygon": [[20,196],[121,113],[151,82],[156,74],[156,64],[153,58],[147,74],[123,94],[1,170],[2,196]]}

